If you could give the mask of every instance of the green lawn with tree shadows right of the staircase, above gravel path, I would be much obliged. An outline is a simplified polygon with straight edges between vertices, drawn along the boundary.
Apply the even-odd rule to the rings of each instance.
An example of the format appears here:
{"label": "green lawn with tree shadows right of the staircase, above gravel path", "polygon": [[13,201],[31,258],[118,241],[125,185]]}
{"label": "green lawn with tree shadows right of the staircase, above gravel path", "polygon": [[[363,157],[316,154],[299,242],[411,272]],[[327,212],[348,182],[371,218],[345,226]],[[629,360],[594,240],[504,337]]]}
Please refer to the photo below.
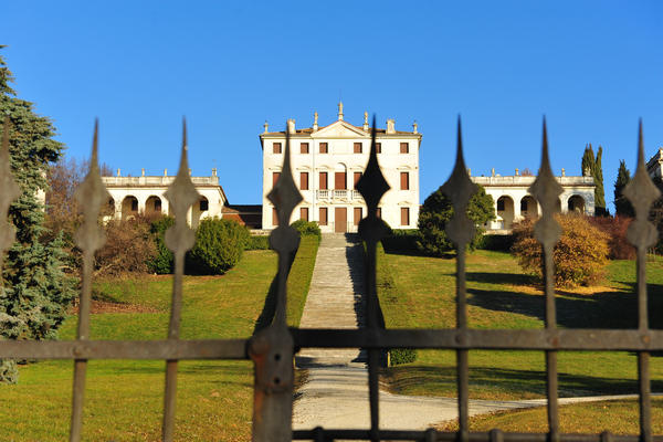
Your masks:
{"label": "green lawn with tree shadows right of the staircase, above gravel path", "polygon": [[[387,327],[455,326],[455,260],[379,254],[379,296]],[[648,265],[650,312],[663,328],[663,265]],[[635,265],[615,261],[599,287],[564,290],[557,296],[558,325],[567,328],[634,328]],[[472,328],[543,328],[544,297],[536,281],[506,253],[467,255],[467,315]],[[653,314],[657,314],[654,320]],[[559,354],[562,397],[636,392],[636,357],[628,352]],[[663,391],[663,358],[653,357],[652,388]],[[470,351],[470,396],[476,399],[545,397],[541,351]],[[385,370],[394,392],[455,396],[453,351],[418,350],[418,360]]]}

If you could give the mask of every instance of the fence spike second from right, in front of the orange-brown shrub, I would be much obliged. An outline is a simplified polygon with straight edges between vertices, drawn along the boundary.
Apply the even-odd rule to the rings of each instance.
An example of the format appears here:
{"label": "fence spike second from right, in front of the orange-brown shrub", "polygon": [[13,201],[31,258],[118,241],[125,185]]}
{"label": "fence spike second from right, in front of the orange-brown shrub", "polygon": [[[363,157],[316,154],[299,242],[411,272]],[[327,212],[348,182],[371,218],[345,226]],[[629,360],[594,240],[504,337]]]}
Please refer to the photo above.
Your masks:
{"label": "fence spike second from right, in front of the orange-brown shrub", "polygon": [[534,236],[544,248],[552,248],[561,235],[561,228],[555,220],[557,202],[562,192],[561,186],[555,179],[550,168],[550,156],[548,154],[548,129],[546,117],[544,117],[544,130],[541,140],[541,166],[532,186],[529,193],[537,199],[541,206],[541,218],[534,225]]}

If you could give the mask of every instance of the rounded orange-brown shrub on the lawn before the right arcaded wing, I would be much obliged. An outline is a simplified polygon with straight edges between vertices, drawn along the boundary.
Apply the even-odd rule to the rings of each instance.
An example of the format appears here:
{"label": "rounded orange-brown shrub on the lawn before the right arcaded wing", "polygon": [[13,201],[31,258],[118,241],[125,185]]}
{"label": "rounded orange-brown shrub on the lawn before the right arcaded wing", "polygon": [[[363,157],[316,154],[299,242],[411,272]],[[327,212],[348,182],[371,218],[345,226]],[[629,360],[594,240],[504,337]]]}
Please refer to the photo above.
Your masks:
{"label": "rounded orange-brown shrub on the lawn before the right arcaded wing", "polygon": [[[582,215],[569,213],[555,217],[561,225],[561,236],[555,245],[556,285],[591,285],[601,276],[607,263],[609,235]],[[520,266],[541,277],[541,245],[534,239],[534,222],[525,220],[514,227],[512,251]]]}

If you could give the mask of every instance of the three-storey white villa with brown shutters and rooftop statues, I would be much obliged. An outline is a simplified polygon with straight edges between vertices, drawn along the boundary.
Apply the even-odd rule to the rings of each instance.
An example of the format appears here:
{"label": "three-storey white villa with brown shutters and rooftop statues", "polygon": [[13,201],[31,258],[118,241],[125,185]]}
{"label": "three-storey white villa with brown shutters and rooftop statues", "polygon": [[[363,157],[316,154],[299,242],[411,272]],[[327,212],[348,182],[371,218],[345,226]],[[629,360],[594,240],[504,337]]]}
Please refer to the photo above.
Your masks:
{"label": "three-storey white villa with brown shutters and rooftop statues", "polygon": [[[291,137],[293,177],[304,201],[293,212],[291,222],[316,221],[323,232],[356,232],[366,217],[366,203],[355,183],[368,162],[371,133],[368,114],[364,125],[344,120],[343,103],[338,119],[318,126],[317,113],[313,126],[296,128],[287,120]],[[378,162],[391,187],[379,206],[381,218],[393,229],[415,229],[419,217],[419,147],[421,134],[417,124],[412,131],[396,130],[393,119],[387,128],[377,129]],[[285,131],[269,131],[265,123],[260,135],[263,150],[263,213],[262,227],[277,225],[275,209],[267,193],[280,177],[285,152]]]}

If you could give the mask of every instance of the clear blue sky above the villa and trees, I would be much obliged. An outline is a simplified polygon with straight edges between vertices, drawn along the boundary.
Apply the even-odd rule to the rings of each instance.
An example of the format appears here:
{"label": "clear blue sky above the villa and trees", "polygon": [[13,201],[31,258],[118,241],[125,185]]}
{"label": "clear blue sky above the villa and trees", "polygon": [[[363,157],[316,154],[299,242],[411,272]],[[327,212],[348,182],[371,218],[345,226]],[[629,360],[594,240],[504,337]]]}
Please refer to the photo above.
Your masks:
{"label": "clear blue sky above the villa and trees", "polygon": [[175,172],[181,116],[193,175],[219,169],[231,203],[261,202],[267,119],[309,127],[365,110],[423,134],[421,200],[453,166],[463,118],[473,175],[538,169],[543,115],[555,172],[603,146],[606,200],[620,159],[663,146],[663,2],[14,1],[1,53],[20,97],[50,116],[69,156],[123,175]]}

